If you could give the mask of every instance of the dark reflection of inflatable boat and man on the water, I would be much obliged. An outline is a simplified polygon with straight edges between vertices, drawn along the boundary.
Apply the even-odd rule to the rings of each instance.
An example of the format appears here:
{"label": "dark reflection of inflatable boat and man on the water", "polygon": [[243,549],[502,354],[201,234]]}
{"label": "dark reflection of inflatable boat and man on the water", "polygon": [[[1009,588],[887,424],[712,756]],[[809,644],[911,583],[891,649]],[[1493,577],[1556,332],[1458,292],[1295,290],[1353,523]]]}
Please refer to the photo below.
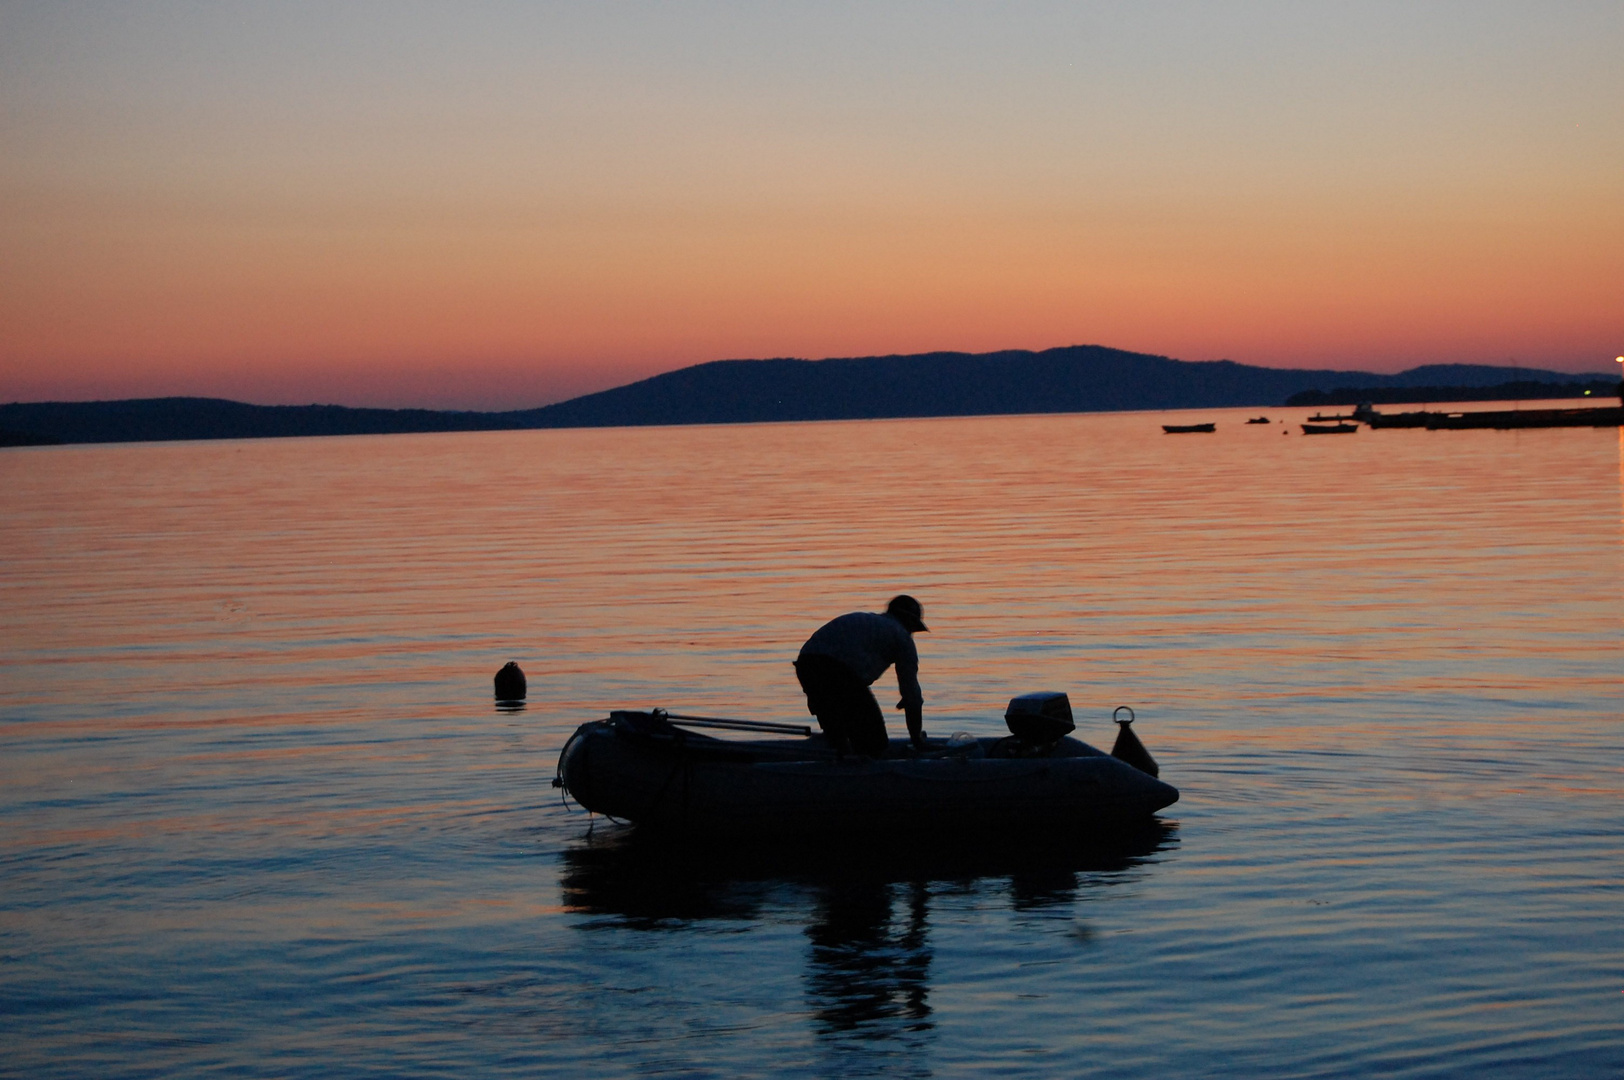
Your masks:
{"label": "dark reflection of inflatable boat and man on the water", "polygon": [[581,931],[680,932],[703,921],[773,921],[806,913],[802,976],[815,1030],[906,1038],[931,1020],[931,901],[973,888],[1002,892],[1018,911],[1075,903],[1080,892],[1130,880],[1177,841],[1150,820],[1109,841],[983,848],[921,845],[705,846],[607,828],[564,851],[562,903]]}

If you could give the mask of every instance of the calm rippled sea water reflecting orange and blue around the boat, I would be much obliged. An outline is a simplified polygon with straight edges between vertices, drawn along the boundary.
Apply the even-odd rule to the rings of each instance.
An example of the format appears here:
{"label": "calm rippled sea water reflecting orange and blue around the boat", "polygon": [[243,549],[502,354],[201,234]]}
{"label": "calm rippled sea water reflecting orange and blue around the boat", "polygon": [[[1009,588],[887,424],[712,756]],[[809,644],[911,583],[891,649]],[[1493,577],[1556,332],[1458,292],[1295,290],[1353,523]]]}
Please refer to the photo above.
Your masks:
{"label": "calm rippled sea water reflecting orange and blue around the boat", "polygon": [[[0,1074],[1624,1074],[1621,434],[1241,419],[0,453]],[[934,734],[1132,705],[1182,801],[700,858],[551,789],[898,591]]]}

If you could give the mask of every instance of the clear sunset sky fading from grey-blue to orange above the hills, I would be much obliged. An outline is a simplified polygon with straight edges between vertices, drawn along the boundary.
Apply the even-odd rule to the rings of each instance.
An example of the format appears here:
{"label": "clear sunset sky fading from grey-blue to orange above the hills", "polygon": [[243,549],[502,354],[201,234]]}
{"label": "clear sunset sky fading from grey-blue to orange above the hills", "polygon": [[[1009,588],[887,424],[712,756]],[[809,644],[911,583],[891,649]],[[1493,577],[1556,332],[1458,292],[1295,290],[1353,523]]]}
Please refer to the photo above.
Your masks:
{"label": "clear sunset sky fading from grey-blue to orange above the hills", "polygon": [[0,0],[0,401],[1616,375],[1624,3]]}

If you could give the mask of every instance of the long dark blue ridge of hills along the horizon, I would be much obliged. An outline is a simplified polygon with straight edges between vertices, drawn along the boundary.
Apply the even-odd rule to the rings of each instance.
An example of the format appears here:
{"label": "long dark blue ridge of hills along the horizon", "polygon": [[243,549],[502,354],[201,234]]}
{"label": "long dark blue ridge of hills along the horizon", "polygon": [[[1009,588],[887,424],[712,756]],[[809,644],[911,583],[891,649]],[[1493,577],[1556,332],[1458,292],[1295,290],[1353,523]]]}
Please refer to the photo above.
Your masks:
{"label": "long dark blue ridge of hills along the horizon", "polygon": [[1475,388],[1512,382],[1512,375],[1531,383],[1574,378],[1479,364],[1432,364],[1398,375],[1275,369],[1103,346],[715,361],[512,413],[260,406],[216,398],[0,404],[0,445],[1278,406],[1304,391],[1348,387],[1453,388],[1465,398]]}

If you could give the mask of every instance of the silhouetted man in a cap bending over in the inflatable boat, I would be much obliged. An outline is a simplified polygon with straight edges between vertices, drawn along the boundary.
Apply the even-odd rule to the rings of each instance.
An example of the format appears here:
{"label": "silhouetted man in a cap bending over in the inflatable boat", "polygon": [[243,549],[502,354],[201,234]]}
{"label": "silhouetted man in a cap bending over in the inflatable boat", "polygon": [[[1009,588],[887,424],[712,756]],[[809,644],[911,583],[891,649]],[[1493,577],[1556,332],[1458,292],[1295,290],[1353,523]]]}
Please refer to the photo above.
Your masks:
{"label": "silhouetted man in a cap bending over in the inflatable boat", "polygon": [[885,757],[885,715],[869,687],[896,666],[896,703],[908,718],[908,736],[924,747],[924,695],[919,692],[919,653],[913,635],[929,630],[913,596],[896,596],[885,614],[854,611],[818,627],[801,646],[796,677],[807,695],[807,711],[835,744],[836,754],[856,750]]}

